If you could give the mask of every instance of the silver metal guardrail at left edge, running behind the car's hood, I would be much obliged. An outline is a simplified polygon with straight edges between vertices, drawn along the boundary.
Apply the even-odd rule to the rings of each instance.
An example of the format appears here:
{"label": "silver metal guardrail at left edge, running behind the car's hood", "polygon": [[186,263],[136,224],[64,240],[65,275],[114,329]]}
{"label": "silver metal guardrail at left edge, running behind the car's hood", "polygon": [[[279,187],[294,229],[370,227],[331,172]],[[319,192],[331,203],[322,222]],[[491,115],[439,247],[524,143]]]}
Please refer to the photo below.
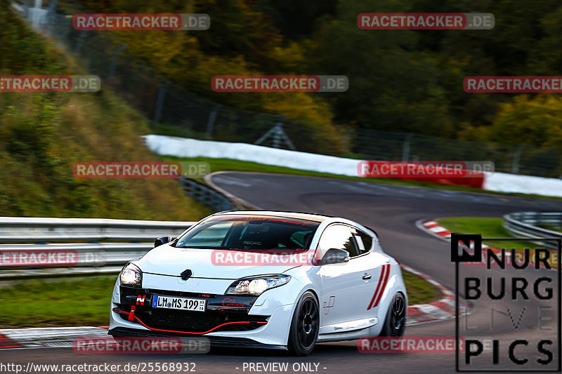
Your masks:
{"label": "silver metal guardrail at left edge, running behind the car's hood", "polygon": [[[150,251],[158,236],[178,236],[194,224],[96,218],[0,217],[0,280],[117,274],[127,261]],[[15,261],[11,262],[14,254],[53,255],[60,252],[77,255],[72,266],[57,263],[13,266]]]}

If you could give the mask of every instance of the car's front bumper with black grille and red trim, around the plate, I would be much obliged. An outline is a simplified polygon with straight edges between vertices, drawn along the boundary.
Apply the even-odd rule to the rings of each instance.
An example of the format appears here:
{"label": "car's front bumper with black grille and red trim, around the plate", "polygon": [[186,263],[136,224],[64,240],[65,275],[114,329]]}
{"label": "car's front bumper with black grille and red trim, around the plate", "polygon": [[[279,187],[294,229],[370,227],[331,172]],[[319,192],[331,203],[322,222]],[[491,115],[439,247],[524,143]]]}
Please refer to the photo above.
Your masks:
{"label": "car's front bumper with black grille and red trim, around the plate", "polygon": [[[175,295],[173,291],[170,293],[165,290],[152,292],[152,290],[142,288],[127,290],[120,288],[117,283],[115,288],[110,309],[109,328],[109,334],[115,337],[204,337],[209,339],[211,345],[214,346],[287,348],[288,330],[291,326],[294,304],[279,305],[277,302],[279,296],[275,294],[282,293],[280,288],[268,290],[267,300],[236,297],[235,302],[228,300],[226,305],[223,305],[223,300],[233,298],[232,296],[205,295],[209,296],[207,312],[185,312],[186,314],[183,314],[183,311],[173,311],[176,314],[172,315],[166,309],[163,313],[166,314],[166,318],[160,320],[149,318],[162,310],[152,308],[150,305],[152,295]],[[134,293],[141,295],[139,300],[143,300],[142,296],[144,296],[145,301],[142,305],[139,305],[138,295],[134,295]],[[135,311],[133,316],[130,315],[132,309]],[[205,314],[212,321],[207,321]],[[193,326],[198,328],[190,328],[188,324],[178,324],[180,317],[189,322],[188,316],[190,315],[197,319],[192,322]],[[166,324],[166,319],[170,321],[169,324]],[[231,324],[224,323],[225,321],[230,321]],[[206,325],[203,326],[205,323]],[[217,328],[219,325],[225,326]]]}

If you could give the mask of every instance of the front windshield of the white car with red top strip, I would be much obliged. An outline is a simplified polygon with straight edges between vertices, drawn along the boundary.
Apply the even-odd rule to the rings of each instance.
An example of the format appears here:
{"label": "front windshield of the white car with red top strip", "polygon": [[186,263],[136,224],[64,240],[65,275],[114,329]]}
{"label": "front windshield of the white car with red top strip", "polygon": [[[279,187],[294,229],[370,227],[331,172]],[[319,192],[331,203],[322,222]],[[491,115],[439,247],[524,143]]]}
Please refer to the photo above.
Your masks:
{"label": "front windshield of the white car with red top strip", "polygon": [[217,217],[190,229],[176,247],[211,249],[308,249],[320,222],[268,216]]}

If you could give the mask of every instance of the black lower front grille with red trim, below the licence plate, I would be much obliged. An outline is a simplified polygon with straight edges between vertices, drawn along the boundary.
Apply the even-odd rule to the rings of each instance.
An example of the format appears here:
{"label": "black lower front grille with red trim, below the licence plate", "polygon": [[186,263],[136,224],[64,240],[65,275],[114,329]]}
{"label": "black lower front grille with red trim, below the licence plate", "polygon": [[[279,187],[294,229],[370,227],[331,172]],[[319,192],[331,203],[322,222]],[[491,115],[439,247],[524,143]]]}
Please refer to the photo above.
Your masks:
{"label": "black lower front grille with red trim, below the licence plate", "polygon": [[[125,314],[119,314],[122,319],[127,319]],[[222,323],[235,321],[266,321],[266,316],[249,316],[245,313],[231,312],[186,312],[174,309],[136,309],[135,316],[141,319],[146,326],[162,330],[185,331],[189,333],[202,333],[211,330]],[[222,326],[215,331],[246,331],[258,328],[257,323],[232,324]]]}

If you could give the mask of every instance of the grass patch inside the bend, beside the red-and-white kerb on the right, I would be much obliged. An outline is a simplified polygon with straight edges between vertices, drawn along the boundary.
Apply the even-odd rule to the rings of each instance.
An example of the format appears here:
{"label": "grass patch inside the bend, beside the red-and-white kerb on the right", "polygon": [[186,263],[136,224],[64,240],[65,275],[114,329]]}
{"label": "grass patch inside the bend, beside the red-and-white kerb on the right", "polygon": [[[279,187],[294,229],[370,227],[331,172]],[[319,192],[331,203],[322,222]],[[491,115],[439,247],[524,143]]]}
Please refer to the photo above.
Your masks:
{"label": "grass patch inside the bend, beside the red-and-white kerb on the right", "polygon": [[[450,232],[462,234],[481,234],[483,238],[511,238],[512,235],[502,227],[502,218],[482,218],[482,217],[452,217],[440,218],[438,224],[448,229]],[[524,248],[535,248],[537,244],[530,241],[488,241],[485,242],[492,248],[515,248],[516,251],[523,251]]]}

